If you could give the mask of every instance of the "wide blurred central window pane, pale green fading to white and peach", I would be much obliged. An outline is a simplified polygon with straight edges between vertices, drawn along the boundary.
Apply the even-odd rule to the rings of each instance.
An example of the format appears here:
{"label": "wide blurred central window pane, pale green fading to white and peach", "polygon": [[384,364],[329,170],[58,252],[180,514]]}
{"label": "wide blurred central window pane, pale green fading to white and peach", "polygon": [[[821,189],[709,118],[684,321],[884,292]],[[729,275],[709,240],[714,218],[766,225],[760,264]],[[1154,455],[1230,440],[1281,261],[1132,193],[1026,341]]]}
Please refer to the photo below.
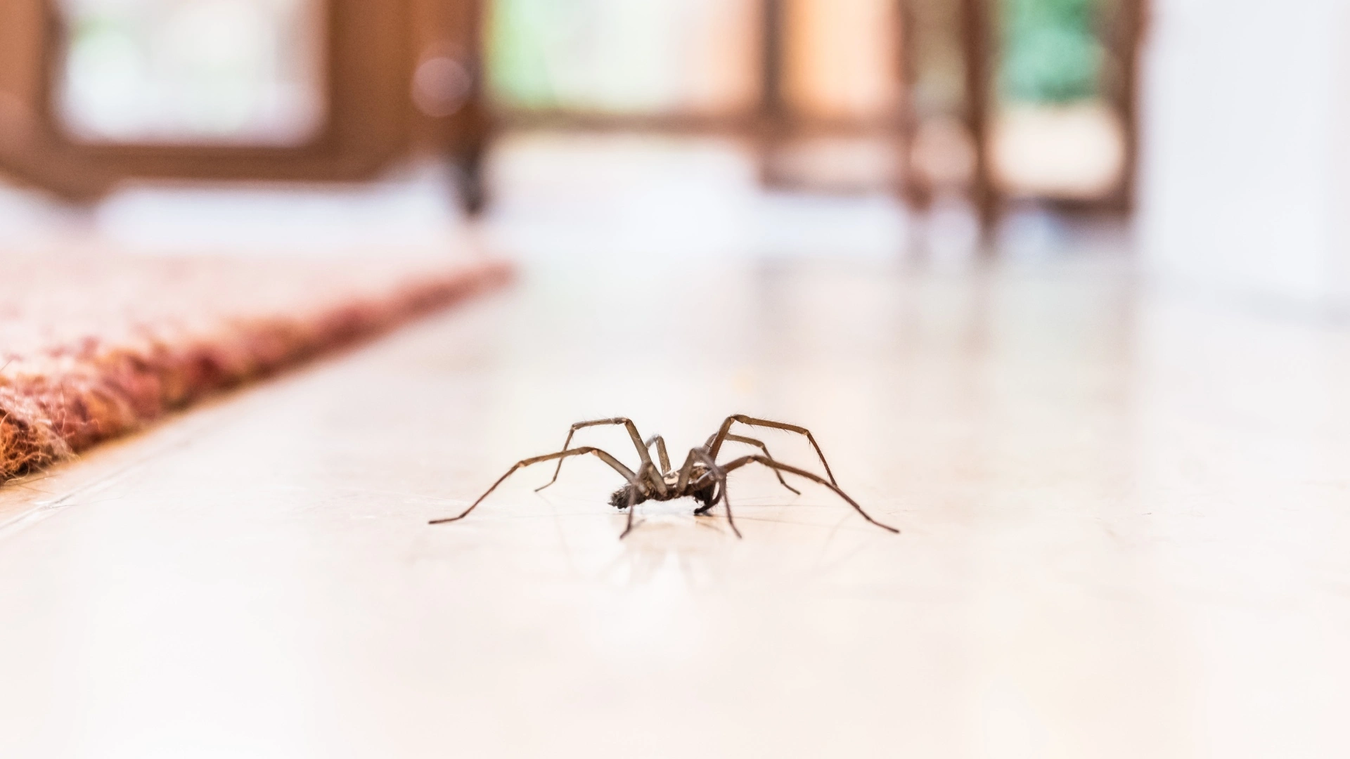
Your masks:
{"label": "wide blurred central window pane, pale green fading to white and peach", "polygon": [[748,112],[759,19],[756,0],[495,0],[490,90],[518,109]]}

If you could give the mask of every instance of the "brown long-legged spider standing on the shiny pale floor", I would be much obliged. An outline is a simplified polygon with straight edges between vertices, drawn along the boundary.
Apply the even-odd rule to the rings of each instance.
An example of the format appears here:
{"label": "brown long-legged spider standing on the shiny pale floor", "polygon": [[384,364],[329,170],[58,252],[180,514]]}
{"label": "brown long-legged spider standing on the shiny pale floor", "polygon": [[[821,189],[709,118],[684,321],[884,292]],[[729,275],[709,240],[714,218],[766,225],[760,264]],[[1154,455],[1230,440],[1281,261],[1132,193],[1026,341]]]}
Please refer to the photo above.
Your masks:
{"label": "brown long-legged spider standing on the shiny pale floor", "polygon": [[[772,427],[775,429],[786,429],[788,432],[796,432],[798,435],[806,435],[807,442],[810,442],[811,447],[815,448],[815,455],[819,456],[821,466],[825,467],[825,475],[829,477],[829,479],[811,474],[810,471],[806,471],[803,469],[798,469],[795,466],[788,466],[786,463],[775,461],[768,454],[768,447],[760,440],[756,440],[753,438],[742,438],[740,435],[732,435],[730,428],[732,424],[734,423],[741,423],[749,427]],[[624,466],[622,463],[620,463],[618,459],[616,459],[614,456],[599,448],[591,446],[580,446],[576,448],[567,447],[571,444],[572,435],[575,435],[578,429],[583,429],[586,427],[598,427],[602,424],[614,424],[614,425],[621,424],[628,429],[628,436],[633,439],[633,446],[637,448],[637,455],[643,459],[643,463],[641,466],[637,467],[636,473]],[[749,446],[755,446],[759,450],[764,451],[764,455],[756,454],[756,455],[741,456],[732,462],[720,465],[717,463],[717,454],[718,451],[721,451],[722,443],[728,442],[747,443]],[[648,452],[648,450],[653,444],[656,446],[656,456],[660,459],[659,469],[656,463],[652,462],[652,456]],[[563,459],[585,454],[595,454],[597,458],[599,458],[609,466],[614,467],[614,471],[622,474],[624,479],[628,481],[626,485],[624,485],[618,490],[614,490],[614,493],[609,498],[609,504],[612,506],[620,511],[628,509],[628,525],[624,528],[624,532],[618,536],[620,539],[628,536],[628,533],[632,532],[633,512],[636,511],[634,506],[637,504],[641,504],[643,501],[670,501],[674,498],[682,498],[684,496],[693,497],[699,504],[699,506],[694,509],[694,513],[699,516],[706,515],[709,509],[711,509],[713,506],[717,505],[718,501],[721,501],[726,509],[726,521],[728,524],[732,525],[732,532],[734,532],[736,536],[740,538],[741,531],[736,528],[736,520],[732,517],[732,502],[726,497],[726,475],[749,463],[761,463],[772,469],[774,474],[778,475],[778,481],[783,485],[783,488],[787,488],[792,493],[801,494],[799,490],[796,490],[795,488],[788,485],[786,479],[783,479],[784,471],[788,474],[795,474],[798,477],[805,477],[813,482],[818,482],[833,490],[838,497],[848,501],[848,505],[853,506],[853,509],[857,511],[857,513],[861,515],[863,519],[865,519],[867,521],[880,527],[882,529],[899,532],[899,529],[895,529],[894,527],[887,527],[876,521],[871,516],[868,516],[868,513],[863,511],[863,506],[857,505],[857,501],[849,498],[842,490],[840,490],[838,483],[834,481],[834,473],[830,471],[830,465],[825,462],[825,454],[821,452],[821,447],[815,443],[815,438],[811,435],[809,429],[806,429],[805,427],[796,427],[794,424],[783,424],[782,421],[770,421],[767,419],[755,419],[740,413],[728,416],[726,420],[722,421],[722,427],[711,438],[709,438],[707,442],[703,443],[703,446],[690,450],[688,456],[684,458],[684,466],[682,466],[679,471],[671,471],[670,456],[666,455],[666,440],[663,440],[660,435],[653,435],[649,440],[644,443],[641,435],[637,434],[637,425],[634,425],[628,419],[620,416],[614,419],[597,419],[594,421],[578,421],[576,424],[572,424],[571,429],[567,432],[567,440],[563,442],[562,451],[556,454],[547,454],[543,456],[535,456],[516,462],[516,466],[506,470],[506,474],[501,475],[501,478],[497,482],[493,482],[493,486],[489,488],[486,493],[479,496],[477,501],[474,501],[467,509],[463,511],[463,513],[448,519],[436,519],[432,520],[429,524],[444,524],[447,521],[458,521],[464,519],[466,516],[468,516],[470,512],[478,508],[478,504],[483,502],[483,498],[490,496],[491,492],[495,490],[498,485],[505,482],[506,478],[514,474],[517,470],[540,462],[558,459],[558,467],[554,469],[554,478],[545,482],[544,485],[536,488],[535,492],[537,493],[539,490],[548,488],[554,482],[558,482],[558,473],[563,470]]]}

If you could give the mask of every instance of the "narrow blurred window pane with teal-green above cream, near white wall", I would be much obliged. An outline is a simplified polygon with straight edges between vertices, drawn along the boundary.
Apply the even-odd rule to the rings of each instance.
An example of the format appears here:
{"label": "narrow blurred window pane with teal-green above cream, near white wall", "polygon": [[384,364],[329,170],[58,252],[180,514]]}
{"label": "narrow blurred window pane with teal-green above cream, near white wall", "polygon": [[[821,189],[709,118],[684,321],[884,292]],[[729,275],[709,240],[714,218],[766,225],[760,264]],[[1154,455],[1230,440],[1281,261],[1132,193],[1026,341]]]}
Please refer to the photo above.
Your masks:
{"label": "narrow blurred window pane with teal-green above cream, near white wall", "polygon": [[1127,135],[1112,88],[1127,61],[1104,35],[1120,1],[1129,0],[1000,1],[988,149],[1003,193],[1096,200],[1119,189]]}

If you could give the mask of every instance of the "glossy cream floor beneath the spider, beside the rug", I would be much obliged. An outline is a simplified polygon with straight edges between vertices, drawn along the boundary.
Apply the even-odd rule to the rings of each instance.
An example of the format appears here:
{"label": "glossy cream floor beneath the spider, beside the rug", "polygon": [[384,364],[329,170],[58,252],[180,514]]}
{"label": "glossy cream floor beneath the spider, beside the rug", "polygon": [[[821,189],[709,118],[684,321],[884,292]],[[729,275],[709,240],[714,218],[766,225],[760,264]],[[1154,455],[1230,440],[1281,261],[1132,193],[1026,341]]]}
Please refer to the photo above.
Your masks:
{"label": "glossy cream floor beneath the spider, beside the rug", "polygon": [[[1343,756],[1347,380],[1118,259],[539,262],[0,489],[0,755]],[[744,470],[620,542],[594,461],[425,524],[730,412],[902,535]]]}

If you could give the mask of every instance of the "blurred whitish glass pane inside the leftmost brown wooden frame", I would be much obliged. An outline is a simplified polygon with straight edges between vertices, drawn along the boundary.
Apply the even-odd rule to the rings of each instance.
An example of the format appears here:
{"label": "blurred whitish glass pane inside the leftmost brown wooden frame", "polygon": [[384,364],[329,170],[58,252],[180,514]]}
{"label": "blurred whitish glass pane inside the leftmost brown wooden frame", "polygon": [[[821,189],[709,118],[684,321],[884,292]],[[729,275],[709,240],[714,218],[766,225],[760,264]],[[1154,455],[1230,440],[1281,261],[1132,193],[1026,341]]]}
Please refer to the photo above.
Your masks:
{"label": "blurred whitish glass pane inside the leftmost brown wooden frame", "polygon": [[323,0],[58,0],[57,123],[84,142],[300,145],[325,117]]}

